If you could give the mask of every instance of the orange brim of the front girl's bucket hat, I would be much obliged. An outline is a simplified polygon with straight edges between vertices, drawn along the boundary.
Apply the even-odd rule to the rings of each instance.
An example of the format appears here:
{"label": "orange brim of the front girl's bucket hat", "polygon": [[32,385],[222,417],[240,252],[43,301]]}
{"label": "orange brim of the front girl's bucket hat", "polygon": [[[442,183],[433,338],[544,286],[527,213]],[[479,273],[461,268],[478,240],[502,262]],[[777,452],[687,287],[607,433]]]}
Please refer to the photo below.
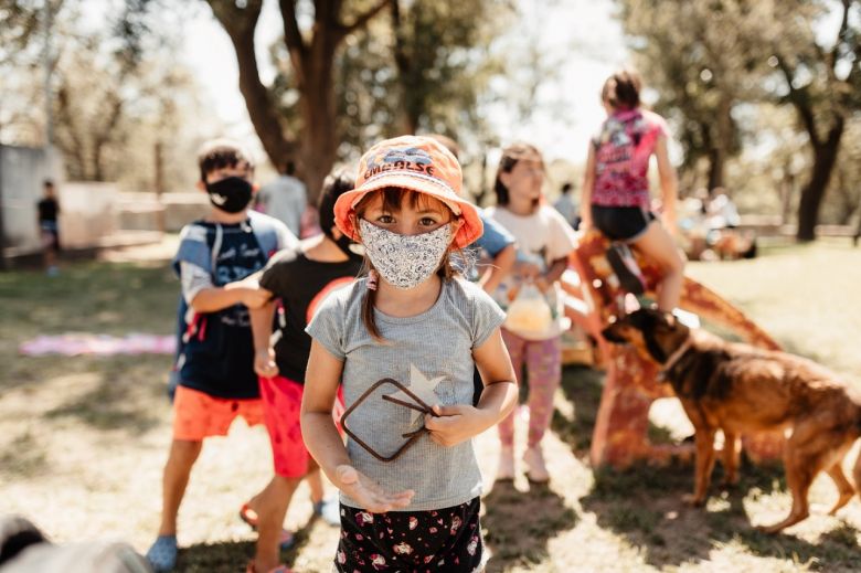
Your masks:
{"label": "orange brim of the front girl's bucket hat", "polygon": [[401,173],[392,173],[376,178],[352,191],[347,191],[334,203],[334,224],[338,229],[355,242],[361,242],[359,230],[353,225],[355,205],[372,191],[379,191],[387,187],[407,189],[417,193],[424,193],[445,203],[456,215],[460,216],[464,224],[455,235],[455,246],[464,248],[474,243],[485,232],[485,225],[478,215],[478,208],[469,201],[457,197],[453,191],[434,183],[417,181],[415,177]]}

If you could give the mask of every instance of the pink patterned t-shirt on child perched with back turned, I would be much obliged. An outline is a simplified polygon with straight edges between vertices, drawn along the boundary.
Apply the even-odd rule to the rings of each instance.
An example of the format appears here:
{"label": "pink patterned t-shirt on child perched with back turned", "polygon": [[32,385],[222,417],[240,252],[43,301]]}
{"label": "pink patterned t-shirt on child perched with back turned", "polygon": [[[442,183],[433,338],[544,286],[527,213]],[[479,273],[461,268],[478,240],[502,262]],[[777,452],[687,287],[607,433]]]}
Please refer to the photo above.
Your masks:
{"label": "pink patterned t-shirt on child perched with back turned", "polygon": [[646,109],[617,112],[600,126],[595,146],[592,204],[649,209],[649,158],[667,123]]}

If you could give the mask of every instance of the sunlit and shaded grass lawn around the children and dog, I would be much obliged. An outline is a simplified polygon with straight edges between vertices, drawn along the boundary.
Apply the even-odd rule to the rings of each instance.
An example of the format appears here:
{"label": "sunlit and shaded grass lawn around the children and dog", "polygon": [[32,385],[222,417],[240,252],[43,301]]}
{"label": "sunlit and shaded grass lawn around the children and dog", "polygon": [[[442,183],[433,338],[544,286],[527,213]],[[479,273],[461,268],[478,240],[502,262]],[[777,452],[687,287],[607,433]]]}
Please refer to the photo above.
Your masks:
{"label": "sunlit and shaded grass lawn around the children and dog", "polygon": [[[861,383],[861,250],[775,248],[755,261],[691,264],[689,273],[785,348]],[[29,358],[18,347],[40,333],[170,333],[178,289],[164,261],[76,263],[54,279],[0,273],[1,512],[25,514],[57,541],[118,537],[146,551],[158,527],[170,442],[169,357]],[[521,477],[491,488],[496,436],[478,437],[489,571],[861,570],[861,502],[826,516],[836,499],[827,477],[814,485],[811,501],[821,506],[815,514],[769,537],[752,524],[788,512],[779,469],[743,468],[742,484],[723,491],[715,485],[705,509],[680,500],[691,488],[690,467],[593,473],[587,450],[600,384],[598,372],[565,370],[545,441],[550,487],[530,489]],[[678,403],[661,401],[652,413],[656,439],[684,435]],[[236,513],[269,471],[259,427],[237,423],[228,437],[208,442],[180,513],[187,549],[179,571],[244,570],[254,534]],[[337,530],[310,514],[301,487],[287,518],[299,543],[284,558],[298,571],[329,571]]]}

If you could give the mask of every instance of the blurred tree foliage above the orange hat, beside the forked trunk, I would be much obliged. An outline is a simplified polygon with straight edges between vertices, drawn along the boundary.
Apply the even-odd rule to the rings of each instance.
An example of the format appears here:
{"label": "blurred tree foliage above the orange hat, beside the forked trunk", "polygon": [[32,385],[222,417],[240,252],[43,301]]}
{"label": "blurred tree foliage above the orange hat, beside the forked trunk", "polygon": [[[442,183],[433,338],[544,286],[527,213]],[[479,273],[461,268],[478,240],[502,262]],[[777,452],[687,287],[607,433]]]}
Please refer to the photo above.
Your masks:
{"label": "blurred tree foliage above the orange hat, beside the forked trunk", "polygon": [[[357,148],[404,132],[458,139],[485,130],[476,103],[492,74],[492,59],[481,46],[498,31],[500,4],[393,1],[393,14],[348,36],[333,66],[339,156],[348,159]],[[270,94],[288,131],[296,131],[299,92],[283,41],[270,55],[278,70]]]}

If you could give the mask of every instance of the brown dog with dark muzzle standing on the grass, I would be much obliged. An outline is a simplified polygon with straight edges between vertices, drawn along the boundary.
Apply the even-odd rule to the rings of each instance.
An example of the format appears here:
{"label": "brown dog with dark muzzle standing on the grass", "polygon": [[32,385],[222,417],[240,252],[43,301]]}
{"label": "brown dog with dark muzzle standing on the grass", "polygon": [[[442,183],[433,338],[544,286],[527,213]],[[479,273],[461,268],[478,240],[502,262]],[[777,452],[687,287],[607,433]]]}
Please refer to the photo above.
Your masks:
{"label": "brown dog with dark muzzle standing on the grass", "polygon": [[[793,495],[789,516],[763,531],[775,533],[809,516],[810,484],[825,469],[837,485],[833,514],[855,489],[841,463],[861,436],[861,394],[818,364],[785,352],[730,343],[703,330],[691,330],[672,315],[637,310],[604,330],[612,342],[631,343],[663,367],[662,374],[681,400],[695,428],[697,469],[693,496],[705,501],[714,467],[714,434],[723,431],[725,481],[737,478],[742,433],[790,428],[784,464]],[[861,456],[853,468],[861,488]]]}

